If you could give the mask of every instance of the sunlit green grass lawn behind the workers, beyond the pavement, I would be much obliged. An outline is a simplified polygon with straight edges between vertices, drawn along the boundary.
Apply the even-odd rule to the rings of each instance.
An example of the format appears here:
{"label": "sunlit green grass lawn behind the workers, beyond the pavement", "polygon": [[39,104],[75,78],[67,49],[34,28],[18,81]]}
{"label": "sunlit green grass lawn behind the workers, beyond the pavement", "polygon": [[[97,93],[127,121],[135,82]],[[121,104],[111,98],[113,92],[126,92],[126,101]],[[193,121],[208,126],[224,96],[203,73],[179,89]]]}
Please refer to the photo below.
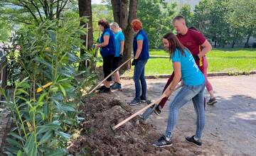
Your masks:
{"label": "sunlit green grass lawn behind the workers, beyond the pavement", "polygon": [[[166,56],[165,57],[154,57]],[[169,54],[164,50],[151,50],[151,58],[146,63],[146,75],[171,74],[172,63]],[[256,49],[218,48],[207,54],[208,72],[250,72],[256,70]],[[99,63],[102,65],[102,63]],[[132,76],[133,68],[124,73],[124,76]]]}

